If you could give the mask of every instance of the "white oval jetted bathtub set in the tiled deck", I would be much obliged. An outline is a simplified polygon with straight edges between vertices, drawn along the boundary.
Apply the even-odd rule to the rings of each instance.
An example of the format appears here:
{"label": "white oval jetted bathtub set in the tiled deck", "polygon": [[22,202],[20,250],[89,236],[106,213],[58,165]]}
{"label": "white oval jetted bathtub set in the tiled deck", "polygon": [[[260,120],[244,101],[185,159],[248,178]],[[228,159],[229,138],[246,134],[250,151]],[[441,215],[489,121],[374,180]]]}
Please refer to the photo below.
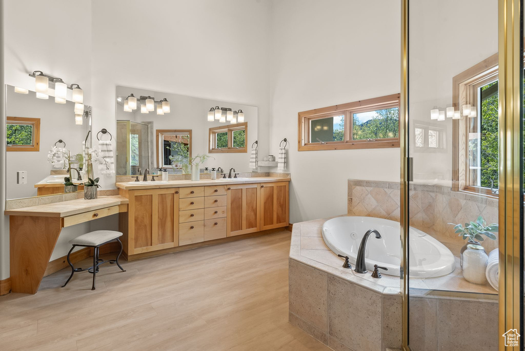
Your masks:
{"label": "white oval jetted bathtub set in the tiled deck", "polygon": [[[371,234],[366,243],[366,269],[374,270],[374,264],[387,267],[381,274],[400,275],[401,240],[400,224],[395,221],[362,217],[345,216],[330,219],[322,226],[324,242],[336,254],[350,257],[352,268],[358,255],[359,245],[364,233],[376,229],[382,238],[376,239]],[[454,271],[454,255],[445,245],[421,230],[409,229],[409,276],[428,278],[447,275]]]}

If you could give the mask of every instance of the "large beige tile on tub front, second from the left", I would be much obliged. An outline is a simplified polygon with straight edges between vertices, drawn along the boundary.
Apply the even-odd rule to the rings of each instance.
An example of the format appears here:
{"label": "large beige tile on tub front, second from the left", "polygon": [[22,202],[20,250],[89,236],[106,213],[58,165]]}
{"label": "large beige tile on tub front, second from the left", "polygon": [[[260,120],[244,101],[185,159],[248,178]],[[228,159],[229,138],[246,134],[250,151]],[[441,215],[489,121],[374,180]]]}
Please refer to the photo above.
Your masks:
{"label": "large beige tile on tub front, second from the left", "polygon": [[328,277],[329,335],[354,350],[381,349],[381,294]]}

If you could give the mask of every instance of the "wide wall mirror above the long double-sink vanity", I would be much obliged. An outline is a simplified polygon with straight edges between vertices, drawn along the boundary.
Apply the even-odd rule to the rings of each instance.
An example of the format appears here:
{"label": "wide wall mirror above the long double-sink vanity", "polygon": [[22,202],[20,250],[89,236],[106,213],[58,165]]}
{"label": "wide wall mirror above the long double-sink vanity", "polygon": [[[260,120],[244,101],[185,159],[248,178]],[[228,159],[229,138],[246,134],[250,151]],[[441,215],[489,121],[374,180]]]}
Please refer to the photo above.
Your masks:
{"label": "wide wall mirror above the long double-sink vanity", "polygon": [[255,106],[119,86],[117,176],[136,176],[146,169],[158,173],[159,168],[188,173],[188,159],[202,154],[211,158],[201,171],[221,167],[251,172],[257,122]]}

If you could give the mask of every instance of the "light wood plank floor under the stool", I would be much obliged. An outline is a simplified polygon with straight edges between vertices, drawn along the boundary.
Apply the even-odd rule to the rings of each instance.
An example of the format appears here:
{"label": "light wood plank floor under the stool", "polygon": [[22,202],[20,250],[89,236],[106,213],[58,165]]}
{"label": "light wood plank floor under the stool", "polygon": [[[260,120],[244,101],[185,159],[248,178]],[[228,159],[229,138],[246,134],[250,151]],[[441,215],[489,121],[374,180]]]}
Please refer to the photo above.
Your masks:
{"label": "light wood plank floor under the stool", "polygon": [[288,323],[289,247],[279,232],[104,264],[96,291],[87,272],[60,288],[62,270],[0,296],[0,349],[329,350]]}

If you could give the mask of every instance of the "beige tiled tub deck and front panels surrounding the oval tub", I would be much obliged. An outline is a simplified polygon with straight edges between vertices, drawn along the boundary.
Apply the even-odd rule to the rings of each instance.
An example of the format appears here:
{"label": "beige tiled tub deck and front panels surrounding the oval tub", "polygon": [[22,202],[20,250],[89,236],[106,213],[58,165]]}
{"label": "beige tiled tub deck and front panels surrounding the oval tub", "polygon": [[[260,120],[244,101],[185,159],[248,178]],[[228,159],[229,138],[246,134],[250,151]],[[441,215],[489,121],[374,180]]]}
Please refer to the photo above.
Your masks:
{"label": "beige tiled tub deck and front panels surrounding the oval tub", "polygon": [[[371,272],[359,274],[343,269],[343,261],[322,241],[324,222],[322,219],[293,224],[289,257],[290,323],[334,350],[400,349],[399,278],[383,275],[375,279]],[[454,349],[454,343],[464,350],[497,349],[497,328],[489,333],[484,328],[474,328],[468,340],[460,340],[465,325],[471,321],[497,320],[497,300],[427,296],[430,289],[424,281],[411,280],[411,286],[419,287],[421,294],[411,297],[412,335],[417,335],[415,349],[449,350]],[[487,292],[483,289],[481,292]]]}

